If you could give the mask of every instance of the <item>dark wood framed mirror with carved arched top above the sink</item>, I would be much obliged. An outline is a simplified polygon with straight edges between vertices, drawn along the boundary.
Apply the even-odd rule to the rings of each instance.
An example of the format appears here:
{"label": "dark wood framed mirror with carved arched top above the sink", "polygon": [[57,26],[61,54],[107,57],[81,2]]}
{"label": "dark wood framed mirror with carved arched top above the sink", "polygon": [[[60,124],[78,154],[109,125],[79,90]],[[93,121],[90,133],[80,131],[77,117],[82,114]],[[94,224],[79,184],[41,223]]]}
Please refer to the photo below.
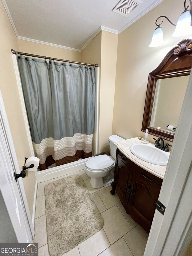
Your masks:
{"label": "dark wood framed mirror with carved arched top above the sink", "polygon": [[149,73],[142,131],[173,141],[175,132],[167,126],[177,126],[191,66],[192,39],[183,39]]}

